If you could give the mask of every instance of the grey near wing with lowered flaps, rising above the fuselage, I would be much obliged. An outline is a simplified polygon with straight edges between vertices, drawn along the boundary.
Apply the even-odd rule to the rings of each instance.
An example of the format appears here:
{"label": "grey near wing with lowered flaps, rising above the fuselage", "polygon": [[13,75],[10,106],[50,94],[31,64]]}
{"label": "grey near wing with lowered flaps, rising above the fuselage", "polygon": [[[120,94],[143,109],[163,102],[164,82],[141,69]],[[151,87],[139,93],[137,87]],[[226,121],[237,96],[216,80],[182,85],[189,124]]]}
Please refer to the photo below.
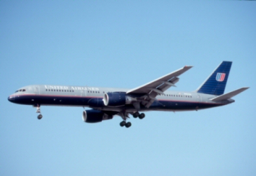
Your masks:
{"label": "grey near wing with lowered flaps, rising above the fuselage", "polygon": [[157,100],[155,98],[157,95],[165,94],[164,92],[171,86],[176,87],[175,83],[179,81],[178,76],[180,76],[190,68],[192,68],[192,66],[184,66],[183,68],[180,68],[179,70],[176,70],[170,74],[162,76],[161,78],[153,80],[140,87],[136,87],[135,89],[131,89],[127,91],[127,94],[129,93],[145,94],[144,96],[141,96],[138,99],[142,101],[142,104],[144,104],[144,106],[149,108],[150,105],[155,100]]}

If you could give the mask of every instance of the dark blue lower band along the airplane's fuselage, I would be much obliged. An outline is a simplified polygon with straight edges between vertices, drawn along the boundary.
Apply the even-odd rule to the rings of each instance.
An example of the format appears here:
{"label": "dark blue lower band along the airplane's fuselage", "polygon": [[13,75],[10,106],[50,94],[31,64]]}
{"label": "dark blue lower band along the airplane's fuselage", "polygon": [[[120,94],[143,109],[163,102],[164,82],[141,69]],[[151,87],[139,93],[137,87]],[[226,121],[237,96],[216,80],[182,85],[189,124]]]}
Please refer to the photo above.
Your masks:
{"label": "dark blue lower band along the airplane's fuselage", "polygon": [[[89,106],[91,108],[110,108],[103,104],[103,97],[101,96],[59,96],[59,95],[19,95],[15,97],[17,104],[27,105],[59,105],[59,106]],[[207,102],[193,102],[182,100],[159,100],[159,102],[153,102],[150,108],[141,106],[141,110],[200,110],[204,108],[213,108],[216,106],[222,106],[225,104],[207,103]],[[127,104],[118,108],[124,108],[125,110],[134,109],[132,104]],[[115,108],[113,108],[115,109]]]}

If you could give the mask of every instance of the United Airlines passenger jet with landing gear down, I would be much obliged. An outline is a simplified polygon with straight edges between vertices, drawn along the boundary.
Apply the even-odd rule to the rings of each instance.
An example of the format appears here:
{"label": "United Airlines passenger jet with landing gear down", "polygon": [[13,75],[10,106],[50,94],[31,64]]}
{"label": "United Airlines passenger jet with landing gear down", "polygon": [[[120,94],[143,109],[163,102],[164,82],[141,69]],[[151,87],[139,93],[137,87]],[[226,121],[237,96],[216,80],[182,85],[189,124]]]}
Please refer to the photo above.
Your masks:
{"label": "United Airlines passenger jet with landing gear down", "polygon": [[37,108],[38,119],[42,119],[40,106],[80,106],[91,108],[82,113],[82,120],[86,123],[99,123],[118,115],[123,120],[120,126],[129,128],[129,115],[143,119],[143,112],[146,111],[197,111],[231,104],[234,102],[231,99],[233,96],[249,88],[242,87],[224,94],[231,65],[231,61],[223,61],[192,92],[167,91],[170,87],[176,87],[175,84],[180,80],[178,76],[193,67],[184,66],[135,89],[28,85],[8,96],[8,100]]}

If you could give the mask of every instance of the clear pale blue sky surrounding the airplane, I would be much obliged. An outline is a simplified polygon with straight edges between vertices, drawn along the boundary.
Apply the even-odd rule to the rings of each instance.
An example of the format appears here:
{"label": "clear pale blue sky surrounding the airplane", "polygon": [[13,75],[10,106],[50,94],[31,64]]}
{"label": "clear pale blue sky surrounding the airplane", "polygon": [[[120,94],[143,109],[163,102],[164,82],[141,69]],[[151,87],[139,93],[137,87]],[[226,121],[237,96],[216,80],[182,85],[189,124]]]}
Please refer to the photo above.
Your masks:
{"label": "clear pale blue sky surrounding the airplane", "polygon": [[[0,1],[0,175],[256,175],[256,2]],[[185,65],[194,91],[233,61],[235,103],[88,124],[12,104],[25,85],[135,88]]]}

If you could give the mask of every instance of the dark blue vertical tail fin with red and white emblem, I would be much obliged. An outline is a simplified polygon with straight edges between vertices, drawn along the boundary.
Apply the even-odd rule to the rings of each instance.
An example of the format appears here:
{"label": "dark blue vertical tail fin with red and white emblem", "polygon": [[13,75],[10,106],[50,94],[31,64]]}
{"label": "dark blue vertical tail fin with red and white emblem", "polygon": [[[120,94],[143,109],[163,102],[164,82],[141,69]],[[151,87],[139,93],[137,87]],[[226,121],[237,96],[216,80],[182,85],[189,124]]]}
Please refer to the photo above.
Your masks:
{"label": "dark blue vertical tail fin with red and white emblem", "polygon": [[197,89],[198,93],[223,95],[229,78],[232,62],[223,61],[204,83]]}

